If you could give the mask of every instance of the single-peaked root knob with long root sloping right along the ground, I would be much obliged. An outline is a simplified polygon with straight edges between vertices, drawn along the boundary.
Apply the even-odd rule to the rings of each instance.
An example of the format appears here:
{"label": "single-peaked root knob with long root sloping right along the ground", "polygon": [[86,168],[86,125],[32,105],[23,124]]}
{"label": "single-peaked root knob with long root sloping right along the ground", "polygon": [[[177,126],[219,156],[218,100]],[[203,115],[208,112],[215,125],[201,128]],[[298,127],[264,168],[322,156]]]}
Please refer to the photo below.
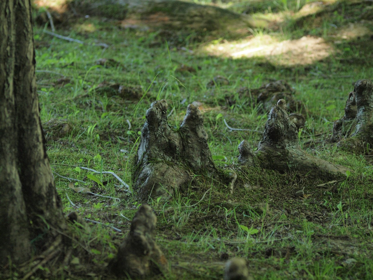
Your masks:
{"label": "single-peaked root knob with long root sloping right along the ground", "polygon": [[301,149],[297,127],[289,119],[283,99],[278,100],[268,115],[258,150],[253,153],[244,140],[239,145],[239,153],[239,162],[243,165],[250,166],[255,161],[262,168],[280,172],[298,171],[302,174],[330,177],[345,175],[349,170],[342,165],[315,158]]}

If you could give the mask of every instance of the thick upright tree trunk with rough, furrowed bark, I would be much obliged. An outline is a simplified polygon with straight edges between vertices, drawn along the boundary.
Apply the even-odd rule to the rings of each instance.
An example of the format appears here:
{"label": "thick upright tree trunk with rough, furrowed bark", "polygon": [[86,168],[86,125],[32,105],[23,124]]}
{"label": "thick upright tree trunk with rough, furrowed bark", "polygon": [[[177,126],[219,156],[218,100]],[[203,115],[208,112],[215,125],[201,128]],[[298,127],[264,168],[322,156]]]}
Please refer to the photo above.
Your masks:
{"label": "thick upright tree trunk with rough, furrowed bark", "polygon": [[0,266],[21,263],[65,228],[43,143],[30,0],[0,1]]}

